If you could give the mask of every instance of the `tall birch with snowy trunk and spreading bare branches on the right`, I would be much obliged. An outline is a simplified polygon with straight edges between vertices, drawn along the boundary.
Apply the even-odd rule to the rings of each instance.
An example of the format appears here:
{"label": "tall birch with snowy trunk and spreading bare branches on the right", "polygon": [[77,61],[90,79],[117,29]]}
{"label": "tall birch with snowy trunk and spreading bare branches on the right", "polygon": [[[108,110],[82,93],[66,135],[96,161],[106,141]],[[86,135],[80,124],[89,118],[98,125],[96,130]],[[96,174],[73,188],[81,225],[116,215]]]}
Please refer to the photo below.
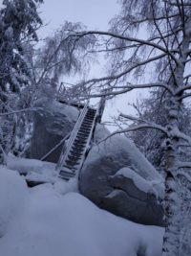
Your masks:
{"label": "tall birch with snowy trunk and spreading bare branches on the right", "polygon": [[[180,178],[190,181],[191,162],[181,161],[180,149],[190,147],[191,138],[179,126],[183,102],[191,96],[191,1],[122,0],[121,12],[107,32],[74,33],[75,38],[96,35],[96,49],[88,54],[109,58],[108,74],[81,81],[92,96],[117,96],[135,89],[160,88],[165,98],[166,125],[141,120],[138,125],[117,130],[158,129],[164,134],[165,234],[162,255],[180,255]],[[76,85],[77,86],[77,85]],[[126,113],[121,118],[136,121]],[[138,120],[140,121],[140,120]],[[186,170],[186,172],[185,172]]]}

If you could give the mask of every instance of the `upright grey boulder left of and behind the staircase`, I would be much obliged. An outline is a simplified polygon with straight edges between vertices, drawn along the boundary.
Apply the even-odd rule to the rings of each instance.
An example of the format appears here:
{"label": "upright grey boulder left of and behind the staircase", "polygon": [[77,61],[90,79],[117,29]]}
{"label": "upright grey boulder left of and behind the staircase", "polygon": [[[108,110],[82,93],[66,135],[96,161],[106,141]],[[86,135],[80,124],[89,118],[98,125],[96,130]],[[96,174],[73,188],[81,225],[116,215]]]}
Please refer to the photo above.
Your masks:
{"label": "upright grey boulder left of and behind the staircase", "polygon": [[[74,106],[60,104],[53,99],[38,101],[35,106],[40,109],[33,114],[30,157],[40,159],[73,130],[79,111]],[[56,163],[61,149],[62,146],[53,151],[46,161]]]}

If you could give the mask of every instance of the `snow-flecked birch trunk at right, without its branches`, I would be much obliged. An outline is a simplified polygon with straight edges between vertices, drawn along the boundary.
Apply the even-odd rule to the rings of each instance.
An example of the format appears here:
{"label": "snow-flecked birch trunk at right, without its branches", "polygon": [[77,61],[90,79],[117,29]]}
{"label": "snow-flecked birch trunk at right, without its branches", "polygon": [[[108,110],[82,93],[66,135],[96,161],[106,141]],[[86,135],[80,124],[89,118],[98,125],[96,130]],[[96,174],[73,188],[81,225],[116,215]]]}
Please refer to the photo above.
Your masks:
{"label": "snow-flecked birch trunk at right, without its branches", "polygon": [[[190,23],[190,22],[189,22]],[[189,24],[188,23],[188,24]],[[166,140],[166,176],[165,176],[165,234],[163,240],[162,255],[163,256],[179,256],[180,255],[180,222],[181,222],[181,197],[180,183],[178,180],[178,171],[180,163],[180,136],[179,136],[179,116],[182,102],[180,95],[176,94],[176,90],[183,86],[183,74],[185,71],[185,63],[189,52],[190,32],[183,35],[180,48],[180,58],[177,68],[174,72],[174,82],[172,89],[174,95],[169,99],[168,111],[168,139]],[[183,91],[181,92],[181,94]]]}

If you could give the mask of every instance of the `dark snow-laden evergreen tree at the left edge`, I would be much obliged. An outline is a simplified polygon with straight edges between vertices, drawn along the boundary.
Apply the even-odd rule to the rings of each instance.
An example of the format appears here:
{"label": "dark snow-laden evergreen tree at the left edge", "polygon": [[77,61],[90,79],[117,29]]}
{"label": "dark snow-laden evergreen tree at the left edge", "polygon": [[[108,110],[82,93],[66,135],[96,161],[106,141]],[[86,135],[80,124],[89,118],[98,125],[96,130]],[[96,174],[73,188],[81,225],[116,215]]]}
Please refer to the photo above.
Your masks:
{"label": "dark snow-laden evergreen tree at the left edge", "polygon": [[[43,0],[4,0],[0,10],[0,111],[17,107],[22,90],[29,85],[32,70],[27,58],[28,45],[37,41],[36,30],[42,25],[37,5]],[[16,115],[0,120],[1,148],[11,149]]]}

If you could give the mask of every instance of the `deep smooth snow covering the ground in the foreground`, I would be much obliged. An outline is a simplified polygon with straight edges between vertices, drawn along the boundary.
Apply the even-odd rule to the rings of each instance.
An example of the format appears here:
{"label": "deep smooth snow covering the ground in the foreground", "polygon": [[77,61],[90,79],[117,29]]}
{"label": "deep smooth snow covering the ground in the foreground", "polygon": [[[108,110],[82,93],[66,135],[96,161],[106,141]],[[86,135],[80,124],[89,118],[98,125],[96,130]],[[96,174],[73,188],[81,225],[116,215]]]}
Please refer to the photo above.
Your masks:
{"label": "deep smooth snow covering the ground in the foreground", "polygon": [[0,166],[0,256],[159,256],[163,229],[123,220],[57,181]]}

